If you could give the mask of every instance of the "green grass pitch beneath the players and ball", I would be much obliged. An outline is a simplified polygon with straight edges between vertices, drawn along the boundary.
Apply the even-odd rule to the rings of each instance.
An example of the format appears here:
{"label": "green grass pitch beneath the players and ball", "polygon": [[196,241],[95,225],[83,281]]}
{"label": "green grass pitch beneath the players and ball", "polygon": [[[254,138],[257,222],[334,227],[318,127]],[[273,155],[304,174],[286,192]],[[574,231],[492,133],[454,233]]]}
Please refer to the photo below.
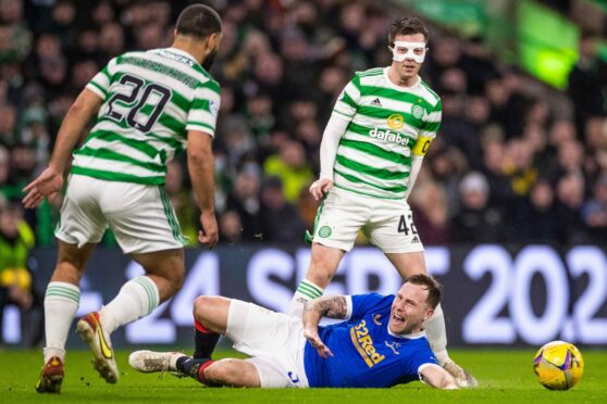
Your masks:
{"label": "green grass pitch beneath the players and ball", "polygon": [[[451,357],[480,383],[478,389],[460,391],[433,390],[421,382],[392,389],[209,389],[169,374],[138,374],[128,366],[127,351],[116,352],[120,381],[107,384],[92,369],[88,351],[71,351],[62,393],[50,395],[34,389],[40,351],[9,350],[0,352],[0,403],[606,403],[607,351],[581,351],[584,376],[569,391],[549,391],[537,383],[532,370],[535,350],[529,349],[451,350]],[[222,350],[215,357],[236,355]]]}

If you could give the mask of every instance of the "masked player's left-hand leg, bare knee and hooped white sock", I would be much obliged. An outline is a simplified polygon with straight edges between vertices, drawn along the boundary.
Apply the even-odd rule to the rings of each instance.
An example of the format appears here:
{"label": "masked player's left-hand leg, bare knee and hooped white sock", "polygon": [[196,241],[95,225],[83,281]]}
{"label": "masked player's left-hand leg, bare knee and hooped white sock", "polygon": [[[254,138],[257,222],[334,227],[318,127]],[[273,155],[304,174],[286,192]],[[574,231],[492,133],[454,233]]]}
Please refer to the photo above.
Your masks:
{"label": "masked player's left-hand leg, bare knee and hooped white sock", "polygon": [[297,287],[288,308],[289,316],[300,317],[306,302],[322,296],[324,289],[337,272],[346,252],[314,242],[306,278]]}

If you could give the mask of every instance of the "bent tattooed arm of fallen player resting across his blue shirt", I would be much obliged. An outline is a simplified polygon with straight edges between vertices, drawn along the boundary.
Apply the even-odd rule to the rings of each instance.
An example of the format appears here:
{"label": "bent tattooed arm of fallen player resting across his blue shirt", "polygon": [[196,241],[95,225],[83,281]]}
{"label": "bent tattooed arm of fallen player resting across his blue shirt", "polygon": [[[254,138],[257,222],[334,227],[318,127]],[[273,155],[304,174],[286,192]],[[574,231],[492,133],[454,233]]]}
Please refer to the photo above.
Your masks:
{"label": "bent tattooed arm of fallen player resting across his blue shirt", "polygon": [[319,352],[322,357],[333,356],[333,353],[319,337],[319,323],[322,317],[346,318],[348,303],[346,296],[321,296],[306,302],[304,314],[304,337]]}

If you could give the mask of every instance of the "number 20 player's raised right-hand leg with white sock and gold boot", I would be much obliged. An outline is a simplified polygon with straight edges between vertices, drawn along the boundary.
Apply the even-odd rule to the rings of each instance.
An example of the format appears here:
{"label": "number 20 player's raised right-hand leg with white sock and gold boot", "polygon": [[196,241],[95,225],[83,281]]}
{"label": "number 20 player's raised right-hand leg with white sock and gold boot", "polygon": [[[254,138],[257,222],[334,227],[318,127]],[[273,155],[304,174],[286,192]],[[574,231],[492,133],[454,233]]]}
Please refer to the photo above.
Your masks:
{"label": "number 20 player's raised right-hand leg with white sock and gold boot", "polygon": [[146,275],[124,283],[108,305],[80,318],[77,326],[78,334],[92,352],[95,368],[109,383],[119,379],[111,333],[150,314],[176,293],[184,279],[183,249],[133,254],[133,258],[145,268]]}

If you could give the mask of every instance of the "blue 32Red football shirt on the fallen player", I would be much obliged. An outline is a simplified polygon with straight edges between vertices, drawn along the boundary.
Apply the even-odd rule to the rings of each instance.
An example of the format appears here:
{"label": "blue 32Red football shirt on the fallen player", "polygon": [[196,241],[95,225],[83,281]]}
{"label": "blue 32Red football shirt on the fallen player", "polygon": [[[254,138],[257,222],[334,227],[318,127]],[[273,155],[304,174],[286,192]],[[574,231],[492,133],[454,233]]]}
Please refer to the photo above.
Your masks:
{"label": "blue 32Red football shirt on the fallen player", "polygon": [[419,380],[418,370],[424,364],[438,364],[425,333],[404,337],[388,331],[394,298],[352,295],[348,320],[319,327],[321,340],[334,356],[325,359],[306,343],[304,364],[310,387],[392,387]]}

